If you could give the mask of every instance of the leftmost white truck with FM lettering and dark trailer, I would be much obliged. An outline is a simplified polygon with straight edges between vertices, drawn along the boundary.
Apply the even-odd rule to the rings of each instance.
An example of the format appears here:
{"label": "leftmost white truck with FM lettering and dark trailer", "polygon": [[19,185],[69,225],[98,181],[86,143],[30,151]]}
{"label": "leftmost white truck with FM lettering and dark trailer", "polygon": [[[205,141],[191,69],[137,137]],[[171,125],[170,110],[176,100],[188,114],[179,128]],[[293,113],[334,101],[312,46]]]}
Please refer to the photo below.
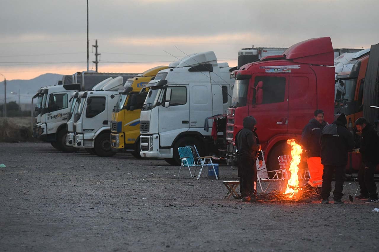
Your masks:
{"label": "leftmost white truck with FM lettering and dark trailer", "polygon": [[[100,81],[109,77],[122,76],[125,81],[136,76],[135,73],[96,73],[77,72],[72,76],[64,76],[61,85],[45,87],[45,102],[42,101],[41,121],[35,128],[35,136],[42,141],[50,142],[63,152],[73,152],[77,149],[66,145],[66,122],[70,112],[69,99],[78,90],[90,90]],[[69,84],[67,82],[73,82]]]}

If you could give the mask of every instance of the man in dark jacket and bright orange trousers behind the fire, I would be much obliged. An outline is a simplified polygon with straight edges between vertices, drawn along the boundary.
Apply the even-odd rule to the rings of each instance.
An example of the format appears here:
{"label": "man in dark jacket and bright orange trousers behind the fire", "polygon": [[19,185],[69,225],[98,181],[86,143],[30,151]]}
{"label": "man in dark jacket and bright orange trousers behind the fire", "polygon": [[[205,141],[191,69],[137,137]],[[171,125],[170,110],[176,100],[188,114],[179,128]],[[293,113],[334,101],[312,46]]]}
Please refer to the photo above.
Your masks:
{"label": "man in dark jacket and bright orange trousers behind the fire", "polygon": [[327,125],[324,121],[324,112],[318,109],[314,112],[315,118],[305,125],[301,134],[300,145],[303,146],[307,154],[308,171],[310,179],[308,184],[311,187],[321,187],[323,184],[323,165],[321,164],[320,137],[323,128]]}

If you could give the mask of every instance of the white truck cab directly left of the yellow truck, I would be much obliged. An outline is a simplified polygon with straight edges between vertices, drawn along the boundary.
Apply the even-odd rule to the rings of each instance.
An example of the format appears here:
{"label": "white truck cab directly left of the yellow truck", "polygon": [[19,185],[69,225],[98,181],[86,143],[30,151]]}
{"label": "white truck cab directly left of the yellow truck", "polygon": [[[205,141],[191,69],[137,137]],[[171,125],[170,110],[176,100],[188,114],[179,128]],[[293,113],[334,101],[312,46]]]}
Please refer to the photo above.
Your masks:
{"label": "white truck cab directly left of the yellow truck", "polygon": [[[121,76],[108,80],[100,90],[91,90],[78,96],[74,114],[74,147],[88,148],[92,154],[110,157],[116,154],[111,148],[112,111],[124,81]],[[99,84],[102,85],[101,83]]]}

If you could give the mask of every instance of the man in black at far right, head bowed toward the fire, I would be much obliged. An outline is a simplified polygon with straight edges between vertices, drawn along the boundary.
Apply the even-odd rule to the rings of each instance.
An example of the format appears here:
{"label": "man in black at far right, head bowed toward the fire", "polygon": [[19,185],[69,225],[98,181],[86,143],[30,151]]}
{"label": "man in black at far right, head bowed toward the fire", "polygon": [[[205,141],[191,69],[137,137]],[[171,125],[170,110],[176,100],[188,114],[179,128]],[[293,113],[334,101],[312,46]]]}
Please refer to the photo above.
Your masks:
{"label": "man in black at far right, head bowed toward the fire", "polygon": [[374,180],[376,166],[379,164],[379,136],[374,126],[363,117],[358,118],[355,125],[361,133],[359,152],[362,154],[363,161],[363,165],[358,171],[360,195],[356,198],[366,200],[366,203],[379,202]]}

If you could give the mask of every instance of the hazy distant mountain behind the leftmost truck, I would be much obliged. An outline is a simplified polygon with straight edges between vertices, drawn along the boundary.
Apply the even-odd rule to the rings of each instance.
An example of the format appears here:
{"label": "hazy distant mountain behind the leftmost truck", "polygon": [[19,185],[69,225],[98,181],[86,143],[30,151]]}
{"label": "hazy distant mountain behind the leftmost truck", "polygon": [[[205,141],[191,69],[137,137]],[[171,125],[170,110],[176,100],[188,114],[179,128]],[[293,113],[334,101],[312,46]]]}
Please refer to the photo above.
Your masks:
{"label": "hazy distant mountain behind the leftmost truck", "polygon": [[[31,103],[31,98],[40,87],[55,85],[62,79],[63,75],[56,73],[45,73],[34,79],[13,79],[6,81],[6,101],[18,103],[20,90],[20,103]],[[15,93],[11,93],[15,92]],[[4,103],[4,81],[0,82],[0,103]]]}

